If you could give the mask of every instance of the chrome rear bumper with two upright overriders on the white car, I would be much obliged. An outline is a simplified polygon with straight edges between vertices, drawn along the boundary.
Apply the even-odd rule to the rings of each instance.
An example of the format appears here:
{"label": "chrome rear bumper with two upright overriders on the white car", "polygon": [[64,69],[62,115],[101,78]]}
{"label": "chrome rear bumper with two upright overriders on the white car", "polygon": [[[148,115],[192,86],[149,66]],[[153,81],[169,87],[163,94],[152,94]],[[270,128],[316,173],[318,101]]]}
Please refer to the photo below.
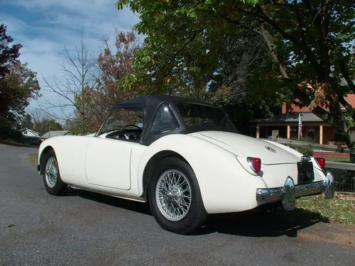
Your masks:
{"label": "chrome rear bumper with two upright overriders on the white car", "polygon": [[282,201],[286,211],[295,209],[295,199],[301,196],[323,193],[326,199],[334,196],[334,177],[327,173],[324,181],[295,185],[292,177],[287,177],[283,187],[256,189],[256,201],[263,203]]}

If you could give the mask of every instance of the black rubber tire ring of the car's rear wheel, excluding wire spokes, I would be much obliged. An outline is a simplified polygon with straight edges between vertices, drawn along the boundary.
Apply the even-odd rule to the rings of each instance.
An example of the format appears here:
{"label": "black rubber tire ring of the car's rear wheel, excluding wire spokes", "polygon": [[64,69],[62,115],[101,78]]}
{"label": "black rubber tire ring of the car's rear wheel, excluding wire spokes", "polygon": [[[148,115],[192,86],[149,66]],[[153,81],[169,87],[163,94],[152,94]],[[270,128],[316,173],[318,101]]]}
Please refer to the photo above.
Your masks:
{"label": "black rubber tire ring of the car's rear wheel, excluding wire spokes", "polygon": [[[160,175],[167,170],[178,170],[190,182],[191,188],[191,201],[190,209],[187,214],[180,221],[171,221],[166,218],[162,211],[160,211],[157,199],[156,199],[156,186]],[[207,218],[207,211],[204,209],[202,202],[202,196],[200,187],[197,182],[195,173],[190,165],[177,157],[166,157],[159,162],[158,167],[155,169],[151,182],[148,186],[148,199],[151,211],[155,220],[158,222],[161,228],[179,234],[194,233],[204,225],[204,221]]]}

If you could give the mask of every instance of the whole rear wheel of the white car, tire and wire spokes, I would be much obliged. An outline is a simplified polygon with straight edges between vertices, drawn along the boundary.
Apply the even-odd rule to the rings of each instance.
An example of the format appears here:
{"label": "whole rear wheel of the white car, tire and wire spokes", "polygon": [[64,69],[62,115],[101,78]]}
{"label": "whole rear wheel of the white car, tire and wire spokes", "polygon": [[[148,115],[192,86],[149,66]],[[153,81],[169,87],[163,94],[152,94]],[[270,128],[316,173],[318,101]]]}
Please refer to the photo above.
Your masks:
{"label": "whole rear wheel of the white car, tire and wire spokes", "polygon": [[195,173],[176,157],[160,161],[148,187],[148,198],[155,220],[173,233],[192,233],[207,217]]}

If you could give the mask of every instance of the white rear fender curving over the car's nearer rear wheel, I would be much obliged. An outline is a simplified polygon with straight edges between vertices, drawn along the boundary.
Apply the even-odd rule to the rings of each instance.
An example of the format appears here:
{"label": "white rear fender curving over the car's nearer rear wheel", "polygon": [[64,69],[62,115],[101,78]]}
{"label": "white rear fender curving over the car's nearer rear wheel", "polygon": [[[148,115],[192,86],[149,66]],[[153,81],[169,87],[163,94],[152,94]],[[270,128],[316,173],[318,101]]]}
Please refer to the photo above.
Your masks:
{"label": "white rear fender curving over the car's nearer rear wheel", "polygon": [[234,153],[192,135],[173,134],[156,140],[143,152],[138,163],[137,191],[132,187],[131,196],[145,194],[145,168],[149,160],[162,151],[180,155],[192,167],[209,213],[253,209],[256,207],[256,188],[266,187],[261,177],[244,170]]}

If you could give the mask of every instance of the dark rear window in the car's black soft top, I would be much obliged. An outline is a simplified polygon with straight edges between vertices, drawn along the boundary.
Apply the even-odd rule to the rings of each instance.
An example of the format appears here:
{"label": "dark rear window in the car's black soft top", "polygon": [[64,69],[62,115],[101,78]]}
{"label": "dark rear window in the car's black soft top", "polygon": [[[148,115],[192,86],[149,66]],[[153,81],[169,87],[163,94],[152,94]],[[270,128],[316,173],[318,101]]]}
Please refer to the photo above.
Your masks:
{"label": "dark rear window in the car's black soft top", "polygon": [[187,126],[216,126],[236,131],[223,109],[190,103],[179,103],[176,106]]}

